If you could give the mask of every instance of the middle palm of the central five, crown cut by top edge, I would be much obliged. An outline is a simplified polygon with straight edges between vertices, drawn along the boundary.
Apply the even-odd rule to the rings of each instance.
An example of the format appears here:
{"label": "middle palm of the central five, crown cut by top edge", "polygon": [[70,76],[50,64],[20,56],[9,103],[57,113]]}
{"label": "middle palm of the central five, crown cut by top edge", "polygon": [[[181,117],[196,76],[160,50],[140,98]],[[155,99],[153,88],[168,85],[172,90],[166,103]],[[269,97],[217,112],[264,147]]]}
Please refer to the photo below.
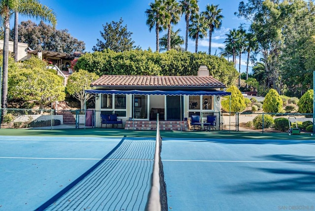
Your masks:
{"label": "middle palm of the central five, crown cut by top edge", "polygon": [[185,51],[188,48],[188,33],[189,33],[189,20],[190,16],[199,12],[198,0],[180,0],[182,14],[185,14],[186,21],[186,37],[185,37]]}

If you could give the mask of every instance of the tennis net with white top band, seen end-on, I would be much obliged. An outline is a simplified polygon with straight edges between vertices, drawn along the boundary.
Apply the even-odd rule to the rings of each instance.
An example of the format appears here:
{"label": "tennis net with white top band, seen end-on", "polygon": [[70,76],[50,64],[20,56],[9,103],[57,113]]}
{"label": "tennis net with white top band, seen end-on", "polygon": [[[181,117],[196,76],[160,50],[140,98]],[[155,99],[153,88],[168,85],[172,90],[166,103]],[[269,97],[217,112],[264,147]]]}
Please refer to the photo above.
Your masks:
{"label": "tennis net with white top band, seen end-on", "polygon": [[146,205],[146,211],[167,211],[166,183],[164,181],[163,163],[161,161],[162,138],[159,134],[157,118],[156,149],[154,155],[151,189]]}

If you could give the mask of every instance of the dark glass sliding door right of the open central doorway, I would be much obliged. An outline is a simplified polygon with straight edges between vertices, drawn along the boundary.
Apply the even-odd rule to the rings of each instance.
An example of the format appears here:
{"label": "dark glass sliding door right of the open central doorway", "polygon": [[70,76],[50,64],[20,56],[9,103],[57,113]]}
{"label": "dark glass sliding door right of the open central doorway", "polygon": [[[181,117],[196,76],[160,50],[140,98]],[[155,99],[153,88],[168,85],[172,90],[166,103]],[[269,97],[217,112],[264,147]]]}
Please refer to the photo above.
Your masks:
{"label": "dark glass sliding door right of the open central doorway", "polygon": [[[182,100],[182,106],[181,106]],[[166,96],[166,120],[183,120],[184,119],[184,97]],[[182,109],[181,109],[182,107]],[[182,116],[182,118],[181,118]]]}

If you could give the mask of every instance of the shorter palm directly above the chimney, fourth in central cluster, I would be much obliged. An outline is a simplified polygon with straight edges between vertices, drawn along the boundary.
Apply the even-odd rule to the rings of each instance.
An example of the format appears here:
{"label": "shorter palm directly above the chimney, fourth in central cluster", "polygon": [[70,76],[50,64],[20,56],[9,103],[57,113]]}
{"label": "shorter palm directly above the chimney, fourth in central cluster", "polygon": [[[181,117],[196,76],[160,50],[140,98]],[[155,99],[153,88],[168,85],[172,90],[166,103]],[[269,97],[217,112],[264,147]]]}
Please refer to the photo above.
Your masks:
{"label": "shorter palm directly above the chimney, fourth in central cluster", "polygon": [[198,38],[202,39],[207,35],[207,26],[205,19],[199,14],[195,14],[190,18],[189,37],[196,40],[195,52],[198,52]]}

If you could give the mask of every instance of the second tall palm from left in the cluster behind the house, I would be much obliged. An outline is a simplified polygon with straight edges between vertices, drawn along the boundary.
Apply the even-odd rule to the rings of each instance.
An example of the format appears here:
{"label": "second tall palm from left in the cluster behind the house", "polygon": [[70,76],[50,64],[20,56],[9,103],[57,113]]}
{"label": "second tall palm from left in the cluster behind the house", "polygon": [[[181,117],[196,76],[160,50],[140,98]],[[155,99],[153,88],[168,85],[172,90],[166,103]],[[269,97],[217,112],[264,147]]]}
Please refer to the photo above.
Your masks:
{"label": "second tall palm from left in the cluster behind the house", "polygon": [[164,0],[165,16],[164,29],[167,29],[167,50],[171,49],[171,24],[178,24],[180,20],[181,7],[177,0]]}

